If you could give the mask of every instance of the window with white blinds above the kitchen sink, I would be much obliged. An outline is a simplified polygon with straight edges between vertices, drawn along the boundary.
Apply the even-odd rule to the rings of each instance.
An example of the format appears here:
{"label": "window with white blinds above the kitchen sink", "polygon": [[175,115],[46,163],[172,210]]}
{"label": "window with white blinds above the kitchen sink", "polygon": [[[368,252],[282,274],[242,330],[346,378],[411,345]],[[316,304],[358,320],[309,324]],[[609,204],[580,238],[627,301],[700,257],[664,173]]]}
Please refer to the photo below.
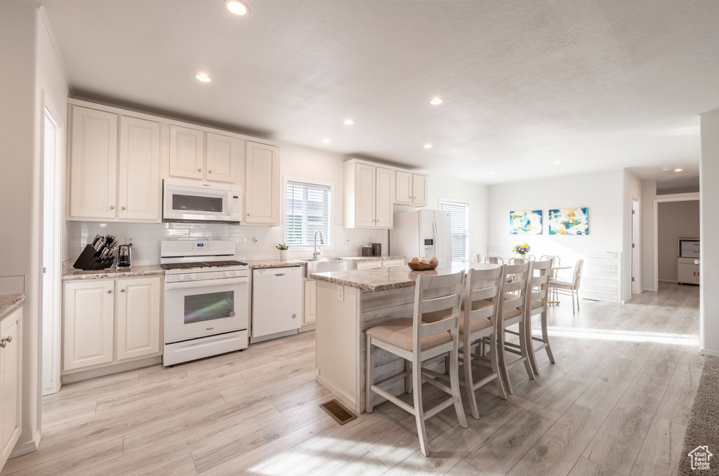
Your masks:
{"label": "window with white blinds above the kitchen sink", "polygon": [[330,195],[329,186],[288,180],[285,242],[289,247],[312,246],[317,230],[322,232],[324,246],[329,246]]}

